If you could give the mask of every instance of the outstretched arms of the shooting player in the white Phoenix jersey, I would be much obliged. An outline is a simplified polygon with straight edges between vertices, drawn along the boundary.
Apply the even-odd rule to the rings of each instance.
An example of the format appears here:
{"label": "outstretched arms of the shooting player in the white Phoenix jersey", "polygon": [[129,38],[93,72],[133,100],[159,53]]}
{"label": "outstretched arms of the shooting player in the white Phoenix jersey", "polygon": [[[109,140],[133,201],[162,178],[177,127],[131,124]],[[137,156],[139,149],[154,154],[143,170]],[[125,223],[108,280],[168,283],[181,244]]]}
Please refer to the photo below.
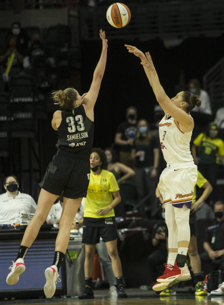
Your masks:
{"label": "outstretched arms of the shooting player in the white Phoenix jersey", "polygon": [[133,53],[135,54],[135,56],[141,59],[141,64],[143,65],[150,86],[154,91],[157,102],[160,104],[164,112],[168,112],[181,125],[182,129],[183,126],[188,126],[187,130],[183,130],[184,132],[192,130],[193,121],[191,120],[191,118],[184,110],[178,108],[173,104],[173,102],[166,95],[163,87],[161,86],[159,77],[157,75],[149,52],[144,55],[143,52],[137,49],[136,47],[133,47],[131,45],[125,45],[125,47],[128,49],[129,53]]}

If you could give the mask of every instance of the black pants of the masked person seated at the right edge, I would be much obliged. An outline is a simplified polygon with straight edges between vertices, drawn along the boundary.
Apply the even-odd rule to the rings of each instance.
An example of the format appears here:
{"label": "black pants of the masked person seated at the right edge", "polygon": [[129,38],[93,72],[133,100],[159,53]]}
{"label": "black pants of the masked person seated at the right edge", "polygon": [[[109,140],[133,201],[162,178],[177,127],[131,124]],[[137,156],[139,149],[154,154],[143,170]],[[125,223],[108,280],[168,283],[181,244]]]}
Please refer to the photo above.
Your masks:
{"label": "black pants of the masked person seated at the right edge", "polygon": [[217,257],[215,260],[211,260],[208,256],[208,252],[202,252],[200,254],[201,258],[201,271],[205,274],[214,271],[215,269],[223,269],[224,255]]}

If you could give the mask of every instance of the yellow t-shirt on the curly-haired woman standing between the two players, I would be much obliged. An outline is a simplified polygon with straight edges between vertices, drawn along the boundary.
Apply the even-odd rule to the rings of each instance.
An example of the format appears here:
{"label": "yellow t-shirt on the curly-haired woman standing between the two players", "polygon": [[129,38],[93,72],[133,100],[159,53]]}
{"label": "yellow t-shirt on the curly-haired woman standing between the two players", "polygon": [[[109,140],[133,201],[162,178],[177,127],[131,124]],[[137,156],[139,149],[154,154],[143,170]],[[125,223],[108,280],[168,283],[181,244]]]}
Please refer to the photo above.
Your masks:
{"label": "yellow t-shirt on the curly-haired woman standing between the two players", "polygon": [[97,215],[97,211],[105,209],[113,201],[112,192],[119,191],[114,174],[102,170],[99,175],[94,175],[91,170],[87,196],[85,198],[84,217],[102,218],[115,216],[114,209],[105,216]]}

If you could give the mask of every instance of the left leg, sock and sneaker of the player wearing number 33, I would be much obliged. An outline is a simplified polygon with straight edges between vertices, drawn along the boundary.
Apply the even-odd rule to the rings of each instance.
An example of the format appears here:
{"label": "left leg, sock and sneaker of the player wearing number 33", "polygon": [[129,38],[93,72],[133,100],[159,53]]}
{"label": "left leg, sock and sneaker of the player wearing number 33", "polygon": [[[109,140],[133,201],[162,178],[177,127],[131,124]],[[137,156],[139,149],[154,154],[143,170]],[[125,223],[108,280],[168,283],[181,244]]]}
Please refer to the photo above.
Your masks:
{"label": "left leg, sock and sneaker of the player wearing number 33", "polygon": [[34,213],[34,216],[31,222],[28,224],[21,245],[18,250],[17,257],[13,262],[13,265],[9,268],[11,272],[8,274],[6,278],[6,282],[9,285],[14,285],[19,280],[19,275],[25,271],[24,258],[27,254],[28,249],[36,239],[40,227],[46,220],[50,208],[52,207],[55,200],[58,198],[58,195],[54,195],[45,191],[43,188],[41,189],[37,209]]}

